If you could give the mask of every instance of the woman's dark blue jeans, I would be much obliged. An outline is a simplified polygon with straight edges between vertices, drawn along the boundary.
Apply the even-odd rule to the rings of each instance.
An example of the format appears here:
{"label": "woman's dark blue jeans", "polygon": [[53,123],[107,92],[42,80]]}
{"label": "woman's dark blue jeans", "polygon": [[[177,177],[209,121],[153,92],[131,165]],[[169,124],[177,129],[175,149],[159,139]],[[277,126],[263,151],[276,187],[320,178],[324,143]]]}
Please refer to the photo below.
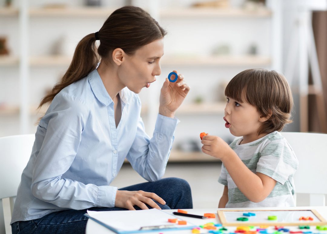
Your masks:
{"label": "woman's dark blue jeans", "polygon": [[[166,202],[161,209],[192,209],[191,188],[184,179],[165,178],[155,182],[146,182],[131,185],[119,190],[138,191],[155,193]],[[148,206],[149,207],[149,206]],[[151,207],[149,207],[151,208]],[[136,210],[140,210],[135,206]],[[87,210],[91,211],[124,211],[124,208],[92,207],[84,210],[64,210],[47,214],[39,219],[29,221],[18,221],[11,225],[12,234],[34,233],[34,234],[72,234],[85,233],[87,217],[84,216]]]}

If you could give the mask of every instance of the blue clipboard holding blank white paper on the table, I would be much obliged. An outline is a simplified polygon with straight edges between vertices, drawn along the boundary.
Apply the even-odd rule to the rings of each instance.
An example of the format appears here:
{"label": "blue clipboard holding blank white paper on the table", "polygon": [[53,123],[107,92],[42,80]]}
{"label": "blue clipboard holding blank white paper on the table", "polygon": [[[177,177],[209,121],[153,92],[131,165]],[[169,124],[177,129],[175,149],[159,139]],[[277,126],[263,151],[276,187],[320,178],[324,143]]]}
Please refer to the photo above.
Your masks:
{"label": "blue clipboard holding blank white paper on the table", "polygon": [[115,233],[123,234],[173,231],[197,227],[190,222],[186,225],[169,223],[168,219],[171,218],[177,218],[178,220],[182,219],[158,209],[137,211],[87,211],[84,215]]}

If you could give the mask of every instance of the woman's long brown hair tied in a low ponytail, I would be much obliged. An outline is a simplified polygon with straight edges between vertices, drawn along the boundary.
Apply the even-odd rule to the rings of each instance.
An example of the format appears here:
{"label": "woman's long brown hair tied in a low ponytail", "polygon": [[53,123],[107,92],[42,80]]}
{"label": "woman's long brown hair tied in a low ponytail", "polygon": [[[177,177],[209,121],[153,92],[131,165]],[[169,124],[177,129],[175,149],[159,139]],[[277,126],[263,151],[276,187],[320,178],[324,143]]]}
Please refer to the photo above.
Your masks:
{"label": "woman's long brown hair tied in a low ponytail", "polygon": [[100,58],[112,61],[112,51],[121,48],[127,55],[133,55],[142,46],[161,39],[166,31],[149,13],[139,7],[125,6],[115,10],[98,32],[100,45],[96,50],[95,33],[81,39],[75,49],[68,70],[52,91],[41,101],[39,108],[53,98],[64,87],[82,79],[96,68]]}

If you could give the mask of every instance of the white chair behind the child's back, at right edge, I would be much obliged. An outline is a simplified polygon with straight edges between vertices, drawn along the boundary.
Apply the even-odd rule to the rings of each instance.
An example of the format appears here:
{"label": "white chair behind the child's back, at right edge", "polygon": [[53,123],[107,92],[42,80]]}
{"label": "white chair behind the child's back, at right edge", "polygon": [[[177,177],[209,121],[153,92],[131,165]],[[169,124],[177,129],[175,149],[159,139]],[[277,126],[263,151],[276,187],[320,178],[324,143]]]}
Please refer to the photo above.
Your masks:
{"label": "white chair behind the child's back, at right edge", "polygon": [[[325,206],[327,194],[327,134],[281,132],[299,160],[295,192],[309,194],[310,206]],[[295,196],[296,199],[296,196]]]}

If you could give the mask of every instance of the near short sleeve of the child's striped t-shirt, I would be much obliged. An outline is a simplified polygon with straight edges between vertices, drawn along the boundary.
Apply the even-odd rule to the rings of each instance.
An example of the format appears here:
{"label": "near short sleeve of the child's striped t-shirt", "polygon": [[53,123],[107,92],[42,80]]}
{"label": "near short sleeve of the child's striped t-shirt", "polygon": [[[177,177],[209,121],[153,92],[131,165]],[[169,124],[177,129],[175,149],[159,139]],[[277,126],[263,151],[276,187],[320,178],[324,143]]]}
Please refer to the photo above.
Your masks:
{"label": "near short sleeve of the child's striped t-shirt", "polygon": [[256,172],[284,184],[290,176],[294,175],[298,164],[294,151],[282,138],[271,141],[263,148]]}

